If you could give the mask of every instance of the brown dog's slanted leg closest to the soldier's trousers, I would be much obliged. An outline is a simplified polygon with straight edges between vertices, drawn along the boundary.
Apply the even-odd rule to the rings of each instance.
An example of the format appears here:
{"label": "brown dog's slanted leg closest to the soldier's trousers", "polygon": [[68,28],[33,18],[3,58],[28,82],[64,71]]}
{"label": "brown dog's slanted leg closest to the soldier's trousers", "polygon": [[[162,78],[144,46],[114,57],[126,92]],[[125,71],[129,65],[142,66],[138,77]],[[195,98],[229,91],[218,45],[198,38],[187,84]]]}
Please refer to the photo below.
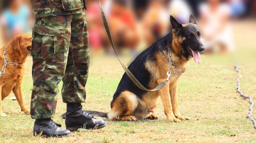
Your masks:
{"label": "brown dog's slanted leg closest to the soldier's trousers", "polygon": [[26,107],[22,89],[21,89],[21,83],[17,83],[17,85],[12,89],[15,97],[17,98],[17,101],[20,105],[21,111],[23,111],[26,114],[30,114],[30,110]]}

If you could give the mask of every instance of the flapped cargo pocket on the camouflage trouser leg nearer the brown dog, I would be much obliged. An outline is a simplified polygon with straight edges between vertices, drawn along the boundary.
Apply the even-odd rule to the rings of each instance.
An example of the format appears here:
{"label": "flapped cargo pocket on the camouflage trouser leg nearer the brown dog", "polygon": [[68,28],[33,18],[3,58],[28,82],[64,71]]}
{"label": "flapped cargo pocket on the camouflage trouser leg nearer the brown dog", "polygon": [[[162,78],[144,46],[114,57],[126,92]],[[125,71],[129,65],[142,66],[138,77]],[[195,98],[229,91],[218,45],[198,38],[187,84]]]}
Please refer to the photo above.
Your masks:
{"label": "flapped cargo pocket on the camouflage trouser leg nearer the brown dog", "polygon": [[69,42],[65,42],[65,27],[35,25],[31,55],[33,60],[64,61],[58,56],[68,50]]}

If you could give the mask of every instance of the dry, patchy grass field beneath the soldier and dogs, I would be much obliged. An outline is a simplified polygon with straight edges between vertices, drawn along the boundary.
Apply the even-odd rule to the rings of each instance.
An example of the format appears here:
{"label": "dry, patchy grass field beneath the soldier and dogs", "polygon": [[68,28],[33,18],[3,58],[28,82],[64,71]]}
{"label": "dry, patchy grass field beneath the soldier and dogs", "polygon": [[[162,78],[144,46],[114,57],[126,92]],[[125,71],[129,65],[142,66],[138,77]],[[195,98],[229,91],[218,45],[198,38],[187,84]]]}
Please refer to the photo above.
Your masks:
{"label": "dry, patchy grass field beneath the soldier and dogs", "polygon": [[[246,25],[246,26],[245,26]],[[247,28],[241,29],[240,26]],[[252,29],[254,28],[254,29]],[[256,102],[256,40],[255,21],[234,23],[235,43],[240,55],[241,89]],[[252,31],[253,30],[253,31]],[[249,34],[249,35],[248,35]],[[246,36],[246,37],[245,37]],[[122,58],[125,63],[129,58]],[[28,57],[24,75],[23,93],[30,107],[32,91],[32,58]],[[108,112],[112,95],[124,73],[116,57],[92,56],[87,99],[83,109]],[[155,110],[158,120],[113,122],[99,130],[79,130],[70,137],[44,138],[32,134],[34,120],[20,111],[17,101],[3,101],[7,117],[0,117],[0,143],[173,143],[173,142],[256,142],[256,129],[246,118],[249,102],[236,92],[237,73],[231,55],[202,55],[202,63],[189,61],[187,71],[178,86],[179,108],[192,120],[180,123],[167,122],[160,102]],[[59,86],[62,87],[61,85]],[[61,91],[61,89],[59,90]],[[56,116],[53,119],[65,127],[61,115],[66,105],[59,93]],[[256,109],[256,107],[255,107]],[[256,117],[256,112],[253,112]]]}

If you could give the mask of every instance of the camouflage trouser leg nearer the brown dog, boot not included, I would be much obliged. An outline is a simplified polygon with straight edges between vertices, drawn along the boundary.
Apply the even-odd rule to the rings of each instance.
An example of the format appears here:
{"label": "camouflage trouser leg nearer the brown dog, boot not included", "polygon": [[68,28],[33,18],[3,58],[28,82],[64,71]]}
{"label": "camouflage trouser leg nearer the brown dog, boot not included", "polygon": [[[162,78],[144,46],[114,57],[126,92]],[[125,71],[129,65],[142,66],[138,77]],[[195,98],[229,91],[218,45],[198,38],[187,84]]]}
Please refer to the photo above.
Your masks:
{"label": "camouflage trouser leg nearer the brown dog, boot not included", "polygon": [[31,117],[53,118],[58,84],[64,77],[72,15],[36,19],[33,28]]}

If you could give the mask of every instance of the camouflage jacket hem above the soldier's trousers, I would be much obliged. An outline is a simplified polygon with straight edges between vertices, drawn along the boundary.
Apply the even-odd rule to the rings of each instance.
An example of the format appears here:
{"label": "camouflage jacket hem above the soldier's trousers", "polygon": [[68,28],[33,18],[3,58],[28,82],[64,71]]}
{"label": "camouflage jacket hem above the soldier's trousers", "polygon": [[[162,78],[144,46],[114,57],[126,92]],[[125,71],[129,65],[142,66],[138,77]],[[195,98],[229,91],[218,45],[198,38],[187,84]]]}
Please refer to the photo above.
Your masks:
{"label": "camouflage jacket hem above the soldier's trousers", "polygon": [[35,18],[82,13],[83,0],[30,0]]}

